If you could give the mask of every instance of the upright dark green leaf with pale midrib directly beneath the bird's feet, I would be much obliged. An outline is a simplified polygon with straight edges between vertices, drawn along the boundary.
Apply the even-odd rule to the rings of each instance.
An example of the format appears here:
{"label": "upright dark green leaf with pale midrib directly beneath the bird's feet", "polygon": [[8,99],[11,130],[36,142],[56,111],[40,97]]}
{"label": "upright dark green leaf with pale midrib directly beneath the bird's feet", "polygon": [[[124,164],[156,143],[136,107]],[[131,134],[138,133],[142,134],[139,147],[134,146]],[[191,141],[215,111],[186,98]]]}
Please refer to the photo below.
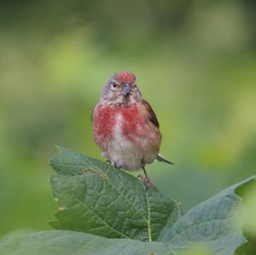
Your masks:
{"label": "upright dark green leaf with pale midrib directly beneath the bird's feet", "polygon": [[60,148],[50,165],[58,173],[49,178],[60,209],[55,229],[151,242],[181,216],[176,201],[99,160]]}

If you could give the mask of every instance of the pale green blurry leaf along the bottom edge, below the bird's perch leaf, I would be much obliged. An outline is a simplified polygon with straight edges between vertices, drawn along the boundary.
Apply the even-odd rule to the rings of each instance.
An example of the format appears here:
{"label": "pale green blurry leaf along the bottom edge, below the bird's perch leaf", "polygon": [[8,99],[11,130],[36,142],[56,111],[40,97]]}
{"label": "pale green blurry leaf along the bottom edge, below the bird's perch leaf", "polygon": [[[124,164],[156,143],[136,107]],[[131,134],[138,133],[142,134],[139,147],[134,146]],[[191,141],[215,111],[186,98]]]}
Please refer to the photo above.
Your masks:
{"label": "pale green blurry leaf along the bottom edge, below the bird's perch leaf", "polygon": [[173,255],[165,243],[107,239],[67,230],[49,230],[0,242],[3,255]]}

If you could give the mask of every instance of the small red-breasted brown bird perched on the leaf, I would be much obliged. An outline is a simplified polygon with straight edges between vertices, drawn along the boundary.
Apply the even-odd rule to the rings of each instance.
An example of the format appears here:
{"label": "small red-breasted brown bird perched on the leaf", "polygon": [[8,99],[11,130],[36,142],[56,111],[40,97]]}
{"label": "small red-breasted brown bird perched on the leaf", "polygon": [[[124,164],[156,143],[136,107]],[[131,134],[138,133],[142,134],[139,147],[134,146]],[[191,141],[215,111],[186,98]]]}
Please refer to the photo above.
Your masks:
{"label": "small red-breasted brown bird perched on the leaf", "polygon": [[102,156],[125,171],[142,169],[144,177],[139,177],[143,183],[157,189],[145,165],[155,159],[173,163],[160,154],[162,136],[158,119],[148,101],[143,99],[132,72],[116,72],[109,78],[91,119],[93,136]]}

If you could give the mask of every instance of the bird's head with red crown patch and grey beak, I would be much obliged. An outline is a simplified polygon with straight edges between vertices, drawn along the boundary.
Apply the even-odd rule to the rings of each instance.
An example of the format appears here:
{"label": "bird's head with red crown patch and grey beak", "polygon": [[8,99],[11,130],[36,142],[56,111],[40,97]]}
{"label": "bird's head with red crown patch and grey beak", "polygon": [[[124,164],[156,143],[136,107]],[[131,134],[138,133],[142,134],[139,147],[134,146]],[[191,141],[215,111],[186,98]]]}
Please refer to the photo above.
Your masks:
{"label": "bird's head with red crown patch and grey beak", "polygon": [[115,73],[105,84],[101,101],[108,105],[128,105],[140,101],[141,98],[136,76],[131,72],[122,71]]}

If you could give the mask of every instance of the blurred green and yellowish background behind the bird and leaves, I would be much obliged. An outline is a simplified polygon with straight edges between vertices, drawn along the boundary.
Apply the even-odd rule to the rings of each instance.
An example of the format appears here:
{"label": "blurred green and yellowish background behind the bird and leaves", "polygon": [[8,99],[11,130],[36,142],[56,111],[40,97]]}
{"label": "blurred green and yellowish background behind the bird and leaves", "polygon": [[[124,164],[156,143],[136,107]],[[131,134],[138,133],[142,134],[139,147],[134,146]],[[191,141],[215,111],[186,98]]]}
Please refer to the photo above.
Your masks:
{"label": "blurred green and yellowish background behind the bird and leaves", "polygon": [[49,229],[55,144],[102,159],[90,114],[120,70],[175,162],[148,173],[184,210],[255,174],[255,17],[253,0],[1,1],[0,237]]}

